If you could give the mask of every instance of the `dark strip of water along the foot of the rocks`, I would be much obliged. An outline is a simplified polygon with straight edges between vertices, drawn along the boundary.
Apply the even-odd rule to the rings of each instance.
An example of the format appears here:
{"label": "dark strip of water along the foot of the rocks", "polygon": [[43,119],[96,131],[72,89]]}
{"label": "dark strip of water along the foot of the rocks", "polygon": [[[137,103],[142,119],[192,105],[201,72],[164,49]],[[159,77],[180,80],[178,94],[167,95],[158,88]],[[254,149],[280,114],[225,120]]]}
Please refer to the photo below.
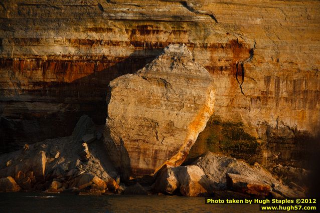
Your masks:
{"label": "dark strip of water along the foot of the rocks", "polygon": [[[204,197],[0,193],[0,212],[267,212],[259,205],[205,204]],[[273,211],[274,213],[275,211]],[[285,212],[285,211],[284,211]],[[300,211],[299,211],[300,212]]]}

